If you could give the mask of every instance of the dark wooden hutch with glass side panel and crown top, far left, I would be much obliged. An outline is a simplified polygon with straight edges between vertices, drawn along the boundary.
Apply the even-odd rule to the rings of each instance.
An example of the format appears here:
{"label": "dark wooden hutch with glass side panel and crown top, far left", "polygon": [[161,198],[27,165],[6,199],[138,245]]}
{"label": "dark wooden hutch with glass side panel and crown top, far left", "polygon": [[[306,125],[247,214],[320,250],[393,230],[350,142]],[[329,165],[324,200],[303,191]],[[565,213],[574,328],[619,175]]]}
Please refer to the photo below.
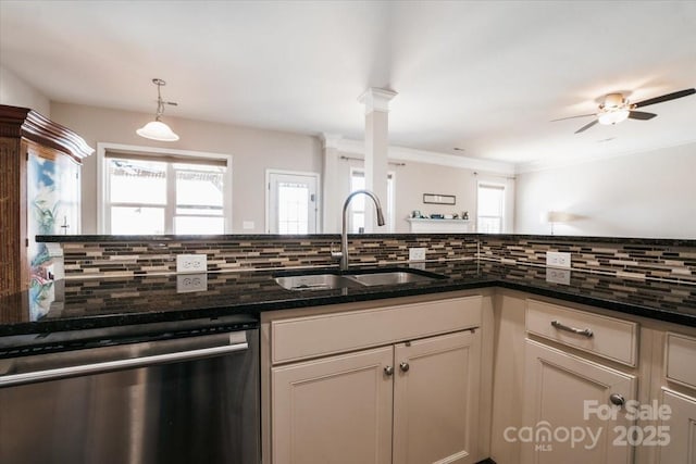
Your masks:
{"label": "dark wooden hutch with glass side panel and crown top, far left", "polygon": [[50,290],[50,256],[34,237],[79,233],[79,166],[92,151],[35,111],[0,105],[0,296],[30,288],[40,302]]}

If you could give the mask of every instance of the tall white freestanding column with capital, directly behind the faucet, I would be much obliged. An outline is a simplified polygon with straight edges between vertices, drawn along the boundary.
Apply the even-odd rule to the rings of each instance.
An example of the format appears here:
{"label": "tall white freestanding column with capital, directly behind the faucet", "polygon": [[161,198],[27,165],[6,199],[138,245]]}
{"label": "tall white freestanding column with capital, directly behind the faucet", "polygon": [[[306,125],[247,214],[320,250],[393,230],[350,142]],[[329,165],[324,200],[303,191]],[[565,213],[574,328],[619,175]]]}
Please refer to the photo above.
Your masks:
{"label": "tall white freestanding column with capital, directly behind the faucet", "polygon": [[[365,188],[377,196],[383,209],[387,201],[389,101],[396,95],[372,87],[358,99],[365,105]],[[365,231],[383,231],[376,225],[372,201],[365,201]]]}

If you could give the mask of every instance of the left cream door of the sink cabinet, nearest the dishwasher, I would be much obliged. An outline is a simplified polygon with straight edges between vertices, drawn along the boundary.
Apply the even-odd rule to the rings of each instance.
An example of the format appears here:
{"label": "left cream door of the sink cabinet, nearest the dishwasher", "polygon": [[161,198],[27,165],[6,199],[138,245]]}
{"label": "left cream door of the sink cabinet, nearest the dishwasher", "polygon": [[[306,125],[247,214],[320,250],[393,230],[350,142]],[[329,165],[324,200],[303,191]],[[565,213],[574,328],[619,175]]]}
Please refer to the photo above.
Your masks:
{"label": "left cream door of the sink cabinet, nearest the dishwasher", "polygon": [[273,367],[277,464],[391,462],[391,347]]}

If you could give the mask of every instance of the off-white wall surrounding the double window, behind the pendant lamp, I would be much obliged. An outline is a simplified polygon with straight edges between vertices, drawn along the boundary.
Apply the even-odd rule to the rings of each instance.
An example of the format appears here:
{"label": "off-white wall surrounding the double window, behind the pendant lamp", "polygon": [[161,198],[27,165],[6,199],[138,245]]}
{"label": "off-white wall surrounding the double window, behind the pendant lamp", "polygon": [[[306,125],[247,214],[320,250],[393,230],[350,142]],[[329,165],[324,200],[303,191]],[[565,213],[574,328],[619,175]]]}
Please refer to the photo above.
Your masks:
{"label": "off-white wall surrounding the double window, behind the pendant lamp", "polygon": [[[233,155],[233,233],[263,234],[265,222],[265,170],[321,173],[322,150],[316,137],[274,130],[253,129],[164,116],[181,140],[157,142],[135,134],[152,120],[152,114],[134,113],[69,103],[51,103],[51,118],[79,134],[92,148],[97,142],[179,150],[227,153]],[[83,234],[97,234],[97,162],[85,159],[83,165]],[[243,229],[252,221],[253,229]]]}

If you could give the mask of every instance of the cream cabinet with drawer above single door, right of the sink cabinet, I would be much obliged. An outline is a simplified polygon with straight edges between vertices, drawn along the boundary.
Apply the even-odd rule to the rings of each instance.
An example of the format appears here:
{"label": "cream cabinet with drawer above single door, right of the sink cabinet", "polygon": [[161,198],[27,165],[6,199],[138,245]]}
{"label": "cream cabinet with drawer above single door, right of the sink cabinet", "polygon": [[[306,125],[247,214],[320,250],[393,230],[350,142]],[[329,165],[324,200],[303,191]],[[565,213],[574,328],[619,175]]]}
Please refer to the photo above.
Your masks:
{"label": "cream cabinet with drawer above single door, right of the sink cabinet", "polygon": [[622,430],[633,425],[624,406],[637,398],[637,376],[582,353],[634,366],[637,324],[527,299],[526,331],[542,339],[525,340],[523,425],[533,436],[508,430],[523,442],[523,462],[631,463]]}

